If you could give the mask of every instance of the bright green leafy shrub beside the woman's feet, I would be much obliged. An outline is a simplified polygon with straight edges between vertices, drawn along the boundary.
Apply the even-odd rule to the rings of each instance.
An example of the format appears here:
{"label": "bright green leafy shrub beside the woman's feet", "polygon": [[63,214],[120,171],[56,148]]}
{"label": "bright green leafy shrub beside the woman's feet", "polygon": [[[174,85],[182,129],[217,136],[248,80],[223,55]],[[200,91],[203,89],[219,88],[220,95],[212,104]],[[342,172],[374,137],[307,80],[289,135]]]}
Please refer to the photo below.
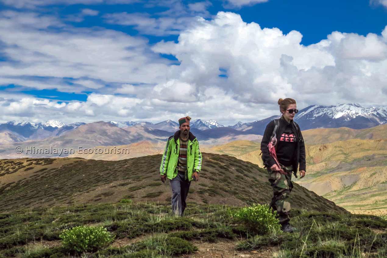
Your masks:
{"label": "bright green leafy shrub beside the woman's feet", "polygon": [[266,234],[281,230],[276,212],[271,212],[269,205],[253,204],[252,206],[238,209],[234,214],[237,220],[245,224],[253,232]]}

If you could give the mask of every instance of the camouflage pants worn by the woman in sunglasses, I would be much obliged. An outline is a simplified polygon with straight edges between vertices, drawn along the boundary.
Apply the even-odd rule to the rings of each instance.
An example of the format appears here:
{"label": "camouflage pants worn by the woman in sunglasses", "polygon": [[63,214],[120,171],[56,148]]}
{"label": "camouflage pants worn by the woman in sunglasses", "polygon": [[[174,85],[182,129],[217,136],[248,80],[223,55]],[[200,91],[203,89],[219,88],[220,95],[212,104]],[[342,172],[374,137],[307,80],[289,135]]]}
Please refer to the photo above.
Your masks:
{"label": "camouflage pants worn by the woman in sunglasses", "polygon": [[269,182],[273,187],[273,198],[271,199],[270,206],[273,210],[277,211],[279,223],[281,225],[286,224],[290,220],[289,194],[291,189],[293,189],[293,184],[291,182],[292,166],[288,166],[286,169],[288,170],[287,175],[277,171],[271,171],[270,168],[267,169],[267,172],[269,173]]}

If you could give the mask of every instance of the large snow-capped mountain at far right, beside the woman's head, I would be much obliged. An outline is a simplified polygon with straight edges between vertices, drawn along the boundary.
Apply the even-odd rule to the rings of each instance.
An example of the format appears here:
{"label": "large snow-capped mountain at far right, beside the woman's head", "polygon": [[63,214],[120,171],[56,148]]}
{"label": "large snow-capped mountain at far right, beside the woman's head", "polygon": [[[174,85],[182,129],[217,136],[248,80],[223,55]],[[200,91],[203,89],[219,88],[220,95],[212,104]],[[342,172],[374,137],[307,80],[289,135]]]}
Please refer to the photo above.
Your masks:
{"label": "large snow-capped mountain at far right, beside the woman's head", "polygon": [[312,105],[300,110],[295,121],[303,130],[319,127],[363,129],[387,123],[387,106],[365,108],[357,103]]}

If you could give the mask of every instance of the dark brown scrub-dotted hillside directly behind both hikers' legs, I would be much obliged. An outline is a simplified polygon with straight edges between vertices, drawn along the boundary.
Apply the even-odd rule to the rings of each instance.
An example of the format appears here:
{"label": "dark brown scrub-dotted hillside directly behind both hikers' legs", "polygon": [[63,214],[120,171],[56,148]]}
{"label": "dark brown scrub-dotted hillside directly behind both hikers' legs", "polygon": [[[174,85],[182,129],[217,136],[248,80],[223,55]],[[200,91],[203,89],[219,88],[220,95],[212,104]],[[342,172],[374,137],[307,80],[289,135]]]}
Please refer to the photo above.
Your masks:
{"label": "dark brown scrub-dotted hillside directly behind both hikers' legs", "polygon": [[[188,201],[227,205],[269,203],[272,189],[264,169],[227,155],[203,154],[199,182]],[[159,179],[161,155],[119,161],[82,158],[0,160],[0,210],[134,201],[169,202],[169,182]],[[295,183],[294,208],[346,212]]]}

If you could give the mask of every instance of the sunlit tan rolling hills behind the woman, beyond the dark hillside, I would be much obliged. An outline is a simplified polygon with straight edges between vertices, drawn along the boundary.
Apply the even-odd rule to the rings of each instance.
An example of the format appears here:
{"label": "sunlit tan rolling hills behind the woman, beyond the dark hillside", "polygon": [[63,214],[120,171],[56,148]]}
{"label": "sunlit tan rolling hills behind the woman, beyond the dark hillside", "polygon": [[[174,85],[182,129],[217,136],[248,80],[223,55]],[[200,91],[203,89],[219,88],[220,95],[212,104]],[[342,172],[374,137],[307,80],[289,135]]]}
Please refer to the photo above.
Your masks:
{"label": "sunlit tan rolling hills behind the woman, beyond the dark hillside", "polygon": [[[320,131],[325,130],[331,129]],[[234,141],[212,146],[206,151],[231,155],[262,167],[259,148],[260,143]],[[387,190],[381,190],[387,189],[384,180],[387,172],[387,139],[307,144],[306,153],[307,176],[294,179],[298,184],[324,195],[350,212],[387,214]],[[353,187],[349,187],[349,184],[353,184]]]}

